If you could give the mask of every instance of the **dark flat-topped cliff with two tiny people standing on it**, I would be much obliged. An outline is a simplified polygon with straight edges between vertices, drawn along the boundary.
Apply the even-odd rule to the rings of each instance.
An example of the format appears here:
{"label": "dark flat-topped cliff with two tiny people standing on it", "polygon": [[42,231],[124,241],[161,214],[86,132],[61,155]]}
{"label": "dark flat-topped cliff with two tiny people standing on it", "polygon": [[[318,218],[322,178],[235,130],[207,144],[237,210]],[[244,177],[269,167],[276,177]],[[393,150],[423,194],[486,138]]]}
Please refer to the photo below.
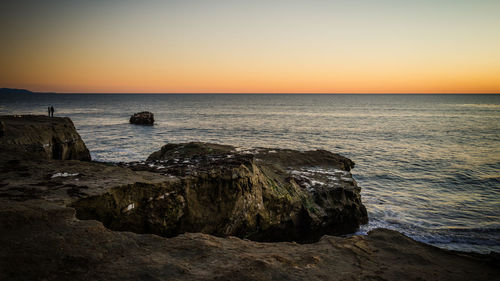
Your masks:
{"label": "dark flat-topped cliff with two tiny people standing on it", "polygon": [[6,157],[90,161],[89,150],[67,117],[8,115],[0,116],[0,124],[0,149]]}

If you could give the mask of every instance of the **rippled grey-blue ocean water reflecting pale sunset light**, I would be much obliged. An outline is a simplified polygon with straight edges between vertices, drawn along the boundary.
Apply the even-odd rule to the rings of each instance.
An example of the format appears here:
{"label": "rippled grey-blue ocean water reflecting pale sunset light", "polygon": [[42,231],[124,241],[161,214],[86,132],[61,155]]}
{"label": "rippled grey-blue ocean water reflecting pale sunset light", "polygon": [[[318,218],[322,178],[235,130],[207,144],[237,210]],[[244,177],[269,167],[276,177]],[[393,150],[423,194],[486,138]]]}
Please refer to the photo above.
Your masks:
{"label": "rippled grey-blue ocean water reflecting pale sunset light", "polygon": [[[327,149],[351,158],[370,222],[438,247],[500,252],[500,95],[132,95],[2,98],[68,116],[98,161],[168,142]],[[152,127],[128,123],[155,114]]]}

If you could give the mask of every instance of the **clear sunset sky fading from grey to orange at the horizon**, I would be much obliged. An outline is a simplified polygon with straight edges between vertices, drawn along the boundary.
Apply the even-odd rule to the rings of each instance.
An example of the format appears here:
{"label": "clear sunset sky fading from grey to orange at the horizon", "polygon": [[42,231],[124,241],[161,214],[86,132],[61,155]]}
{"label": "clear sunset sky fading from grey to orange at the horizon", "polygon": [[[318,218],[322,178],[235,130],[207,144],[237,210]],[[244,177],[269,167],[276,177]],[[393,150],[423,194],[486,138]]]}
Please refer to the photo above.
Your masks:
{"label": "clear sunset sky fading from grey to orange at the horizon", "polygon": [[500,1],[0,3],[0,87],[500,93]]}

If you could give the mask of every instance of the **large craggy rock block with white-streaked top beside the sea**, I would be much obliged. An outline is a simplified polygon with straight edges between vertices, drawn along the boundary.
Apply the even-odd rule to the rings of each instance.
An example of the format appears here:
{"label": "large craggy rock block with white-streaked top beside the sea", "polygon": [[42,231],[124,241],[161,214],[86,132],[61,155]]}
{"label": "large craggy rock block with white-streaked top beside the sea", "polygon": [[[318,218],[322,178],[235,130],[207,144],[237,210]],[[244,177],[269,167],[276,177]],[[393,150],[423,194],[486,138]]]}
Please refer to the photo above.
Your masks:
{"label": "large craggy rock block with white-streaked top beside the sea", "polygon": [[257,241],[317,241],[367,222],[354,163],[328,151],[168,144],[127,164],[176,179],[132,184],[72,204],[81,219],[167,237],[185,232]]}

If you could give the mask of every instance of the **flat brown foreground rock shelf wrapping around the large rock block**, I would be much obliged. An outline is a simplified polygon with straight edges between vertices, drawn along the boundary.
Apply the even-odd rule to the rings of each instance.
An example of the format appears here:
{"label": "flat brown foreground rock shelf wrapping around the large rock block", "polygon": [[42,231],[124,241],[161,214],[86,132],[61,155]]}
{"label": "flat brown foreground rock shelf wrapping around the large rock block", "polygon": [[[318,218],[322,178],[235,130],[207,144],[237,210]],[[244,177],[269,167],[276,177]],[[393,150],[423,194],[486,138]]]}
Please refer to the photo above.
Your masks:
{"label": "flat brown foreground rock shelf wrapping around the large rock block", "polygon": [[2,151],[2,279],[84,280],[109,274],[114,279],[222,280],[332,276],[492,280],[498,276],[498,254],[442,250],[390,230],[349,238],[326,235],[309,244],[262,243],[200,233],[163,238],[109,230],[101,222],[78,219],[69,206],[117,187],[164,186],[176,179],[148,165],[134,170],[79,160],[19,159],[17,153]]}

